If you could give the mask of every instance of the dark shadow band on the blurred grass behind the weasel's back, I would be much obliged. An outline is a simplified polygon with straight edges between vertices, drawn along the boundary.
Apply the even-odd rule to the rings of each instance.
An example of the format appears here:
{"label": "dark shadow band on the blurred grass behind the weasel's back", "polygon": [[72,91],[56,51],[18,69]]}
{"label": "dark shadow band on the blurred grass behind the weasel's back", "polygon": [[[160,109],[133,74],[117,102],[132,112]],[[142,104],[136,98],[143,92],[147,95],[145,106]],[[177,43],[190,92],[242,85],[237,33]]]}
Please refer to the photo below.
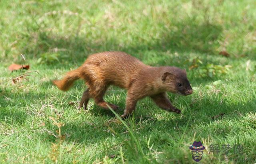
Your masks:
{"label": "dark shadow band on the blurred grass behind the weasel's back", "polygon": [[[214,46],[218,44],[216,40],[222,34],[222,26],[192,22],[192,20],[178,22],[176,30],[173,30],[173,27],[165,27],[166,29],[160,32],[162,37],[160,39],[139,42],[139,44],[138,42],[136,44],[132,42],[124,46],[120,46],[114,36],[112,38],[101,38],[100,42],[96,42],[82,36],[65,38],[65,36],[38,30],[36,44],[26,46],[23,52],[25,54],[33,54],[33,57],[38,58],[38,54],[54,53],[56,51],[56,53],[60,54],[61,63],[68,60],[72,64],[82,64],[86,56],[102,51],[124,51],[138,58],[142,58],[142,56],[136,54],[149,50],[180,53],[194,51],[216,54]],[[175,60],[173,63],[175,63]],[[65,64],[56,64],[56,62],[53,64],[57,67],[65,67]]]}

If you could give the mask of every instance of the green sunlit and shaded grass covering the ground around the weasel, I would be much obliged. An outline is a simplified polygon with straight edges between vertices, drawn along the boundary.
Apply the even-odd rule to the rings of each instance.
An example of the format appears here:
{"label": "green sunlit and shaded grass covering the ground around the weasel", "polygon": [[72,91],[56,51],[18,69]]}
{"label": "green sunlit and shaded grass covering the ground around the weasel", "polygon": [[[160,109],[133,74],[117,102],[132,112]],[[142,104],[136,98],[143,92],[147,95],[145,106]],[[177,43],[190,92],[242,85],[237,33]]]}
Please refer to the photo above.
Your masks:
{"label": "green sunlit and shaded grass covering the ground around the weasel", "polygon": [[[202,163],[255,163],[255,8],[254,0],[0,1],[0,162],[192,163],[188,147],[200,140]],[[88,55],[111,50],[186,68],[194,93],[169,94],[182,114],[146,98],[121,122],[93,101],[77,110],[82,81],[68,92],[52,86]],[[10,72],[12,63],[39,74],[12,84],[26,72]],[[121,108],[125,98],[116,87],[105,96]],[[213,154],[211,144],[244,149]]]}

